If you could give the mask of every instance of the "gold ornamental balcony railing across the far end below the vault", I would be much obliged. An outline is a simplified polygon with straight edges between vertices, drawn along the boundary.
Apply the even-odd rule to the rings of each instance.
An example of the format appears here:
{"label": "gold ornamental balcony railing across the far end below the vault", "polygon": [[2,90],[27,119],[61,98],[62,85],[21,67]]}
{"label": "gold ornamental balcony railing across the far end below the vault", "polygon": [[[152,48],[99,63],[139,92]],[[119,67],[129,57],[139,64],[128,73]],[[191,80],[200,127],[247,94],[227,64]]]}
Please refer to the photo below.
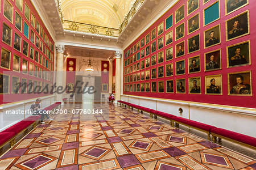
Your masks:
{"label": "gold ornamental balcony railing across the far end below the vault", "polygon": [[72,22],[70,20],[64,20],[63,28],[71,31],[87,32],[97,35],[118,37],[119,31],[115,28],[101,27],[98,25],[90,25],[79,22]]}

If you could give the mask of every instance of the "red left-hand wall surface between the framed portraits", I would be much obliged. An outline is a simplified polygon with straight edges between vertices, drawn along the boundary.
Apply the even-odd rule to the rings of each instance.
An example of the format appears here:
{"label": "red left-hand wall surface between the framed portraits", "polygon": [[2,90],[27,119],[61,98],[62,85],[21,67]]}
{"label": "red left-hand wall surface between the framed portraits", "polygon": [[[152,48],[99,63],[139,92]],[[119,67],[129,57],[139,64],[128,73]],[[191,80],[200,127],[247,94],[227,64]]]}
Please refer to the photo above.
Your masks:
{"label": "red left-hand wall surface between the framed portraits", "polygon": [[[23,10],[20,11],[18,7],[16,7],[15,5],[15,1],[9,1],[11,3],[11,5],[13,6],[13,22],[11,23],[9,20],[6,19],[5,16],[3,16],[3,7],[4,7],[4,1],[1,1],[1,5],[0,5],[0,10],[1,10],[1,13],[0,13],[0,38],[2,40],[2,36],[3,36],[3,22],[5,22],[11,29],[12,29],[12,36],[11,36],[11,46],[5,44],[4,42],[0,42],[0,46],[1,46],[1,49],[2,48],[5,48],[7,50],[9,50],[11,52],[11,55],[10,55],[10,70],[8,69],[4,69],[4,68],[0,68],[0,73],[3,73],[3,74],[6,74],[6,75],[10,75],[10,84],[9,84],[9,94],[4,94],[4,95],[0,95],[0,104],[3,104],[3,103],[11,103],[11,102],[14,102],[14,101],[20,101],[20,100],[26,100],[26,99],[31,99],[31,98],[35,98],[35,97],[42,97],[42,96],[47,96],[49,94],[20,94],[20,91],[19,91],[19,94],[11,94],[11,82],[12,82],[12,76],[18,76],[19,77],[19,81],[21,82],[22,78],[26,78],[26,79],[32,79],[32,80],[37,80],[38,82],[44,82],[44,83],[49,83],[49,85],[52,85],[52,79],[53,79],[53,76],[49,76],[49,79],[45,78],[45,79],[42,79],[42,78],[39,78],[39,76],[31,76],[31,75],[28,75],[28,74],[22,74],[21,71],[20,73],[19,72],[16,72],[16,71],[13,71],[13,56],[14,54],[16,54],[17,56],[20,57],[20,70],[22,70],[22,59],[26,59],[29,62],[33,63],[34,64],[34,68],[35,66],[38,66],[38,68],[42,68],[42,70],[45,70],[48,71],[48,75],[50,74],[53,74],[51,70],[53,70],[53,54],[54,54],[54,47],[55,47],[55,42],[53,41],[52,37],[49,35],[49,32],[47,31],[47,28],[45,27],[42,19],[40,18],[40,16],[38,15],[37,11],[35,10],[34,6],[32,5],[32,3],[29,1],[29,0],[23,0]],[[28,7],[30,8],[30,21],[28,21],[25,16],[24,16],[24,5],[25,5],[25,2],[27,3]],[[22,32],[20,32],[18,29],[15,28],[15,11],[17,11],[19,13],[19,15],[22,17]],[[48,39],[49,39],[49,42],[51,43],[48,43],[48,46],[47,46],[47,39],[46,39],[46,42],[44,42],[44,39],[43,37],[41,37],[39,35],[39,33],[36,32],[36,22],[35,22],[35,28],[32,27],[31,25],[31,14],[34,14],[35,16],[35,20],[39,22],[40,24],[40,27],[41,29],[43,29],[43,32],[46,33]],[[29,26],[29,39],[27,39],[26,36],[23,35],[23,28],[24,28],[24,22],[26,22]],[[48,52],[50,52],[50,58],[48,57],[48,53],[44,54],[43,53],[43,50],[41,51],[40,49],[38,49],[36,46],[35,46],[35,40],[34,40],[34,44],[30,41],[30,31],[34,31],[35,32],[35,37],[38,36],[39,39],[43,42],[43,44],[46,46],[46,48],[48,49]],[[18,50],[15,50],[14,49],[14,33],[17,33],[20,37],[21,37],[21,52],[18,52]],[[28,46],[28,51],[30,51],[30,46],[32,46],[34,48],[34,53],[35,53],[35,50],[39,52],[39,57],[40,57],[40,54],[42,54],[43,58],[47,59],[48,60],[48,66],[46,66],[46,64],[43,65],[43,59],[42,59],[42,63],[39,63],[39,62],[36,62],[35,61],[35,57],[34,59],[31,59],[29,57],[30,55],[30,52],[28,52],[28,57],[27,56],[24,56],[23,53],[22,53],[22,46],[23,46],[23,40],[25,40],[29,46]],[[43,45],[42,45],[43,46]],[[47,50],[46,50],[47,51]],[[34,54],[35,56],[35,54]],[[46,62],[45,62],[46,63]],[[28,66],[28,69],[29,69],[29,66]],[[34,69],[33,69],[34,70]],[[34,75],[34,74],[33,74]]]}

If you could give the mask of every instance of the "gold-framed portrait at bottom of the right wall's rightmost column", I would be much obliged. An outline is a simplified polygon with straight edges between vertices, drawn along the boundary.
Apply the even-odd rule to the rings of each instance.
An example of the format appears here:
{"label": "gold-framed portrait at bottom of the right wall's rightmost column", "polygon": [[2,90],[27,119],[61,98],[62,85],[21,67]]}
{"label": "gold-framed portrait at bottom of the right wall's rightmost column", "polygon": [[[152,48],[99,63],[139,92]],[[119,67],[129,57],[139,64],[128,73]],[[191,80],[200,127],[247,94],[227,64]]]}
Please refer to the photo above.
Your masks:
{"label": "gold-framed portrait at bottom of the right wall's rightmost column", "polygon": [[228,74],[228,95],[252,96],[251,71],[242,71]]}

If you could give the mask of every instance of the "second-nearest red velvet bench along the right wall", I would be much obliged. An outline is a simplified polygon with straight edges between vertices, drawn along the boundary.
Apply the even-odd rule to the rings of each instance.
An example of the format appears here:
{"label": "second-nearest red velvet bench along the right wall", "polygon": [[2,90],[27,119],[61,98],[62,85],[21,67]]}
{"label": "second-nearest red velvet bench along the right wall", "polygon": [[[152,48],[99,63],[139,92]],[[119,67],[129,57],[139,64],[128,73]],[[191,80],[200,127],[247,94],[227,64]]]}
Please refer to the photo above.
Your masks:
{"label": "second-nearest red velvet bench along the right wall", "polygon": [[196,130],[200,130],[203,131],[204,133],[207,133],[208,135],[208,141],[210,141],[210,130],[216,128],[215,126],[211,126],[211,125],[207,125],[207,124],[203,124],[201,122],[197,122],[197,121],[193,121],[193,120],[188,120],[187,118],[183,118],[183,117],[172,117],[172,125],[175,125],[177,128],[179,128],[179,124],[181,125],[185,125],[188,126],[189,128],[193,128]]}

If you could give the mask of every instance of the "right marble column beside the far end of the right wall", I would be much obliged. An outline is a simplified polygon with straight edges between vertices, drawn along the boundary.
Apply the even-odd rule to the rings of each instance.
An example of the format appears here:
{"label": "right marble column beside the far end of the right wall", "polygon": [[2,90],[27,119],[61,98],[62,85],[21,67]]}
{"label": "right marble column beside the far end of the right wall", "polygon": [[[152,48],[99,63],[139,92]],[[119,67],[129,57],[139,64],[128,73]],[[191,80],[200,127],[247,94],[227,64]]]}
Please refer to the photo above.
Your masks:
{"label": "right marble column beside the far end of the right wall", "polygon": [[115,99],[121,99],[121,57],[122,52],[115,52]]}

